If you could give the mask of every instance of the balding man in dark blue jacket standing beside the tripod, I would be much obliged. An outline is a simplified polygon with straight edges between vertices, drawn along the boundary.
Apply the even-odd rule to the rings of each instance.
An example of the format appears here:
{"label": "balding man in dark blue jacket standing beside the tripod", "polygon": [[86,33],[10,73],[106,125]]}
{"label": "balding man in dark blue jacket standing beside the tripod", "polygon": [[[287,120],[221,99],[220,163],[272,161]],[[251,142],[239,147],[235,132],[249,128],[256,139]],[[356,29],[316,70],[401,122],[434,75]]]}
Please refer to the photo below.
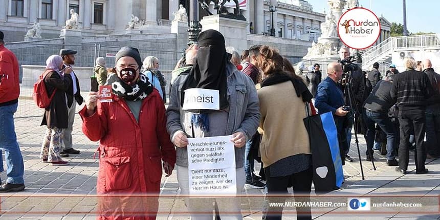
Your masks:
{"label": "balding man in dark blue jacket standing beside the tripod", "polygon": [[[348,151],[346,140],[346,124],[348,111],[344,111],[344,93],[338,82],[342,79],[342,67],[340,63],[332,62],[327,65],[327,75],[318,85],[318,93],[316,94],[315,106],[318,108],[319,114],[332,112],[335,119],[336,128],[338,130],[338,142],[341,152],[342,164],[345,162],[345,155]],[[348,110],[345,108],[345,110]]]}

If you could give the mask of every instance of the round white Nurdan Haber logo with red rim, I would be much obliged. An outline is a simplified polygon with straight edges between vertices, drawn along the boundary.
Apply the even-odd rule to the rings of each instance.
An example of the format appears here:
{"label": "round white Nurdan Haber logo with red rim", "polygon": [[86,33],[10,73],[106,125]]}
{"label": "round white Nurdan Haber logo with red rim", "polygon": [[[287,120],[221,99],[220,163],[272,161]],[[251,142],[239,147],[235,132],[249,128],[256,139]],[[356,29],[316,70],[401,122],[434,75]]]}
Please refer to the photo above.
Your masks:
{"label": "round white Nurdan Haber logo with red rim", "polygon": [[369,48],[378,40],[380,33],[378,16],[366,8],[350,9],[339,18],[338,35],[349,48]]}

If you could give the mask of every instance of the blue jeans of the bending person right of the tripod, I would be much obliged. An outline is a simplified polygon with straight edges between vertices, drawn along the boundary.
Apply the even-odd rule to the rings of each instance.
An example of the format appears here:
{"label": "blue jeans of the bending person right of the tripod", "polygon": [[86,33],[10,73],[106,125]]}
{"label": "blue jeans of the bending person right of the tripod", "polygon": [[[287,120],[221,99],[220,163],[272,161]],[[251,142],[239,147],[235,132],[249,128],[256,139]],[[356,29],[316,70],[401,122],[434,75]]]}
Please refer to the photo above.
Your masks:
{"label": "blue jeans of the bending person right of the tripod", "polygon": [[385,132],[387,138],[387,160],[395,159],[395,145],[397,145],[396,133],[397,131],[394,129],[394,125],[391,120],[388,118],[386,113],[373,112],[368,109],[365,109],[365,122],[367,124],[367,134],[365,135],[365,141],[367,142],[367,151],[366,155],[369,155],[369,152],[372,152],[373,144],[375,142],[375,123],[379,125],[379,127]]}

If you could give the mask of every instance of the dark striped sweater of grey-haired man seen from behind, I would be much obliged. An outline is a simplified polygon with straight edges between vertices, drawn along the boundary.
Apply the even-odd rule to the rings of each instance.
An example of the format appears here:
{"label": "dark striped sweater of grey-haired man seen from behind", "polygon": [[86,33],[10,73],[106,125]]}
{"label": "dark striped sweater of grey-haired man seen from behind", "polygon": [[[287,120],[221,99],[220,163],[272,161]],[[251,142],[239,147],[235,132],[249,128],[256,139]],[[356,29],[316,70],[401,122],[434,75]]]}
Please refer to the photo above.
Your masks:
{"label": "dark striped sweater of grey-haired man seen from behind", "polygon": [[407,70],[395,75],[391,87],[391,97],[399,109],[425,108],[433,95],[428,76],[420,71]]}

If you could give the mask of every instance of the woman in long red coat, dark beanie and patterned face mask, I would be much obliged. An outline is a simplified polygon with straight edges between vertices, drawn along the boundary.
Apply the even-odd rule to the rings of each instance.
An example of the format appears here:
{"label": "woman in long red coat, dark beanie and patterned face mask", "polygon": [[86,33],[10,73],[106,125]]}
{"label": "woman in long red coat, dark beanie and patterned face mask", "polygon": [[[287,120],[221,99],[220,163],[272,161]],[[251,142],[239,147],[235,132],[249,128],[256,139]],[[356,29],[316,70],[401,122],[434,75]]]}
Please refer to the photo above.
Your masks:
{"label": "woman in long red coat, dark beanie and patterned face mask", "polygon": [[[175,148],[165,128],[165,105],[140,73],[141,67],[138,49],[122,48],[116,54],[116,73],[107,76],[112,101],[99,102],[101,96],[90,92],[79,115],[84,135],[100,141],[96,192],[157,196],[100,196],[100,218],[156,219],[161,165],[167,177],[174,168]],[[139,212],[149,216],[140,217]]]}

